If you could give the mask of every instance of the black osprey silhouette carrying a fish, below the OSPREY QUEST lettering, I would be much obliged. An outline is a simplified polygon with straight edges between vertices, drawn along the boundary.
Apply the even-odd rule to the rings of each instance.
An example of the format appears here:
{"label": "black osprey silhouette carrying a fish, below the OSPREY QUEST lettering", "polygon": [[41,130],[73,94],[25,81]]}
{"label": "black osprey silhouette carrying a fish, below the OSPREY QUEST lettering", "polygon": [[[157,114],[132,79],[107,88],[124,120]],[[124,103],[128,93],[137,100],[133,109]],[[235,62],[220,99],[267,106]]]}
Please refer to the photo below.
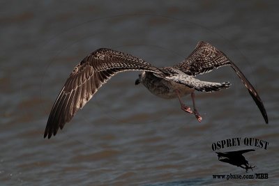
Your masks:
{"label": "black osprey silhouette carrying a fish, below the OSPREY QUEST lettering", "polygon": [[225,162],[228,164],[232,164],[234,166],[239,166],[242,169],[246,169],[246,173],[248,172],[248,169],[255,168],[256,166],[252,166],[248,163],[248,161],[243,156],[243,153],[248,153],[250,151],[255,151],[254,149],[246,149],[246,150],[236,150],[236,151],[229,151],[224,153],[217,153],[218,160],[220,162]]}

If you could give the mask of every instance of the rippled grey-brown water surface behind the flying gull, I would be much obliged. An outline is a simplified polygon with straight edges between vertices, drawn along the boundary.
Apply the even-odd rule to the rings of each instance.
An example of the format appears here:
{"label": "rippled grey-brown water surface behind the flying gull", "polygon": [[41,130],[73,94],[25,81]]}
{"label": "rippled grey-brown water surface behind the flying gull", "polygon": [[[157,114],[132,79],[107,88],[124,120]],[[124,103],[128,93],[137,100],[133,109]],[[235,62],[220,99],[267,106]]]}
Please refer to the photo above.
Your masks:
{"label": "rippled grey-brown water surface behind the flying gull", "polygon": [[[277,185],[276,2],[6,1],[0,8],[0,185]],[[178,100],[135,86],[137,72],[126,72],[100,88],[56,137],[43,139],[60,88],[93,50],[108,47],[165,66],[182,61],[199,40],[243,70],[269,125],[228,67],[200,76],[233,84],[197,93],[202,123]],[[213,142],[234,137],[269,141],[267,150],[246,154],[257,165],[252,173],[269,173],[268,180],[213,180],[212,174],[245,174],[211,150]]]}

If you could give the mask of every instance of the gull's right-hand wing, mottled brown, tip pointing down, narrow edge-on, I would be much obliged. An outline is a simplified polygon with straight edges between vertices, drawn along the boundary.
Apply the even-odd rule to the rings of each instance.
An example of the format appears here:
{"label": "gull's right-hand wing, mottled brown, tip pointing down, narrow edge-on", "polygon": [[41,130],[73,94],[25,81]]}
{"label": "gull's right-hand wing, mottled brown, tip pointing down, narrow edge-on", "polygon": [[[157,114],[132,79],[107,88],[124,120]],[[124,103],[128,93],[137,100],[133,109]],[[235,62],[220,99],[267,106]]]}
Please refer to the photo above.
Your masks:
{"label": "gull's right-hand wing, mottled brown, tip pointing down, narrow edge-on", "polygon": [[194,51],[188,56],[187,59],[181,63],[174,65],[174,68],[181,70],[186,75],[196,76],[206,72],[210,72],[214,68],[220,68],[225,65],[230,65],[232,69],[239,76],[241,82],[246,86],[248,92],[252,96],[253,100],[259,107],[259,110],[264,117],[264,121],[269,123],[269,119],[266,114],[266,109],[262,103],[261,98],[255,88],[250,84],[248,79],[243,75],[241,70],[220,50],[216,49],[209,43],[200,41]]}

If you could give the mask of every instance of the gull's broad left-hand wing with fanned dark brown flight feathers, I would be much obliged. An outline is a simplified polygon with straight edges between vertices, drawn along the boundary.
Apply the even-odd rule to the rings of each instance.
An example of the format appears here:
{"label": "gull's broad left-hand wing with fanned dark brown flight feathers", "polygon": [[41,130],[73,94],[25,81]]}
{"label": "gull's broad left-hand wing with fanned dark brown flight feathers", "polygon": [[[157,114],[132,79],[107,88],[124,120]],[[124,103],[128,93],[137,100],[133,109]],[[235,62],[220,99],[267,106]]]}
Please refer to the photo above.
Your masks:
{"label": "gull's broad left-hand wing with fanned dark brown flight feathers", "polygon": [[112,49],[98,49],[86,56],[74,68],[56,98],[44,137],[48,135],[50,139],[59,127],[62,129],[113,75],[128,70],[145,70],[160,74],[158,68],[146,61]]}

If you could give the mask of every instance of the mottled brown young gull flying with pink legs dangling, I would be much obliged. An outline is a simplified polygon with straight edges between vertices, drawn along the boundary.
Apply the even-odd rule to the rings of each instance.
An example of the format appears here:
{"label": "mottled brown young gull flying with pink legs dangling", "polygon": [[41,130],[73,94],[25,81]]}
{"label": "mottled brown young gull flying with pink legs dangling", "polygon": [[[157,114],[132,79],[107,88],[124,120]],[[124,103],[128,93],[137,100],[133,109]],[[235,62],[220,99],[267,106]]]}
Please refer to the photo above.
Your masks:
{"label": "mottled brown young gull flying with pink legs dangling", "polygon": [[[229,88],[230,84],[229,82],[203,82],[195,76],[225,65],[231,66],[239,76],[259,107],[264,121],[268,123],[266,109],[261,98],[241,70],[216,47],[200,41],[188,58],[172,67],[163,68],[156,68],[143,59],[112,49],[101,48],[92,52],[75,66],[66,80],[50,111],[44,137],[50,139],[59,127],[62,129],[112,76],[130,70],[141,71],[139,78],[135,81],[136,85],[143,84],[151,93],[160,98],[178,98],[181,109],[193,114],[197,121],[201,122],[202,116],[195,106],[194,92],[220,91],[222,88]],[[188,94],[193,100],[193,111],[181,100],[182,96]]]}

